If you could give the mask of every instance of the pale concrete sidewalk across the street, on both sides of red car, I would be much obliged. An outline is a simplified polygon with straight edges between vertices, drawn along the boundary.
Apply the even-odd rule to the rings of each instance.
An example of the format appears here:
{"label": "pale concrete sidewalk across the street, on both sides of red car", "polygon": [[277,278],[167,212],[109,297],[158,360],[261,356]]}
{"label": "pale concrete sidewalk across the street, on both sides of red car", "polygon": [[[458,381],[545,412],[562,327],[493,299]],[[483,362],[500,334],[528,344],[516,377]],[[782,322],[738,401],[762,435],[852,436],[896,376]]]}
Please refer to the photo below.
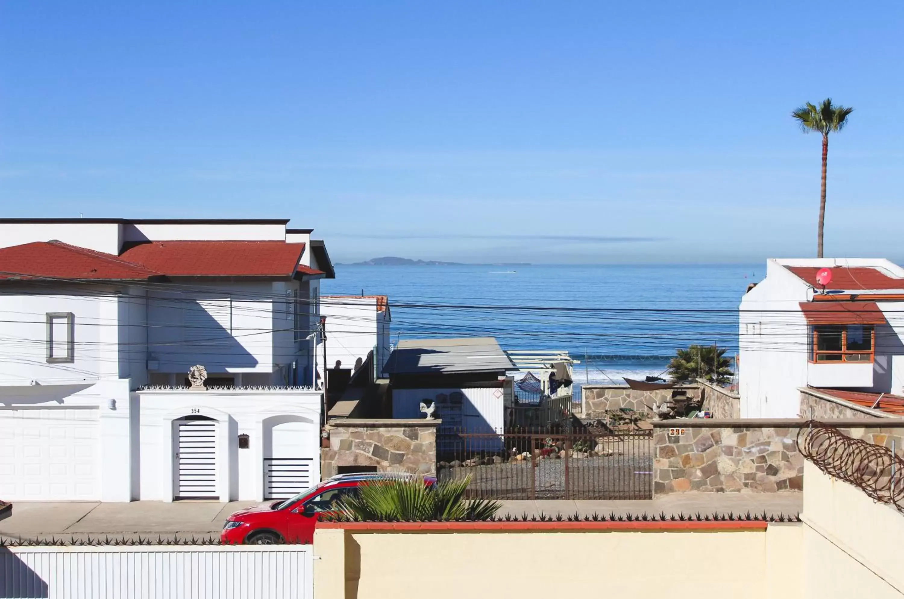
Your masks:
{"label": "pale concrete sidewalk across the street, on both sides of red car", "polygon": [[[128,538],[218,537],[223,521],[233,511],[254,501],[133,501],[98,503],[89,501],[19,501],[13,515],[0,521],[4,538],[96,538],[123,535]],[[652,501],[503,501],[499,515],[579,516],[747,513],[796,515],[803,493],[675,493]]]}

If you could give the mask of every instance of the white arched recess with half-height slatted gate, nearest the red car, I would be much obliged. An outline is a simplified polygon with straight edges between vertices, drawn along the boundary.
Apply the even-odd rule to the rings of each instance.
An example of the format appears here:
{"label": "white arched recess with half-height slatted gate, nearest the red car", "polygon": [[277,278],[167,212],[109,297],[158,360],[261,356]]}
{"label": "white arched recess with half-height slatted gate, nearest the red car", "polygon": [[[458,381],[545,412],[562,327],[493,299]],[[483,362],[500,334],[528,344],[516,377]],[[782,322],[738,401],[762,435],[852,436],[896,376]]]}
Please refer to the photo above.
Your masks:
{"label": "white arched recess with half-height slatted gate, nearest the red car", "polygon": [[264,499],[288,499],[320,481],[316,430],[309,422],[284,422],[271,429],[272,450],[264,458]]}

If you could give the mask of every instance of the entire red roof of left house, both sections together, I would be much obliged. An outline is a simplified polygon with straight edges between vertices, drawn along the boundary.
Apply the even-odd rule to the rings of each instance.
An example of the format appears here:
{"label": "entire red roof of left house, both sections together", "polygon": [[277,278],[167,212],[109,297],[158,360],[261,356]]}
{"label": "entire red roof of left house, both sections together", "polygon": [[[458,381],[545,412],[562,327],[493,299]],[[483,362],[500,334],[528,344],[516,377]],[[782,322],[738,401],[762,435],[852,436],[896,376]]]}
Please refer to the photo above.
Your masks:
{"label": "entire red roof of left house, both sections together", "polygon": [[324,275],[298,265],[304,249],[303,243],[284,241],[148,241],[113,256],[60,241],[38,241],[0,248],[0,280]]}

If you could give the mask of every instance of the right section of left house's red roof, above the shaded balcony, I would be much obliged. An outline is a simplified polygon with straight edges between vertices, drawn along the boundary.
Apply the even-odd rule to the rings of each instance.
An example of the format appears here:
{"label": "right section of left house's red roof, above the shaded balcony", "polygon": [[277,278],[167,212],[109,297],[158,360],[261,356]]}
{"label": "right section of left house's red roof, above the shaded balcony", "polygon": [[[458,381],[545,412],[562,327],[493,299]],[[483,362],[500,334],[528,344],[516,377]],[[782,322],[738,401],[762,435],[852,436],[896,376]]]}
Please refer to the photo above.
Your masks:
{"label": "right section of left house's red roof, above the shaded balcony", "polygon": [[147,241],[119,257],[166,276],[292,276],[304,250],[285,241]]}

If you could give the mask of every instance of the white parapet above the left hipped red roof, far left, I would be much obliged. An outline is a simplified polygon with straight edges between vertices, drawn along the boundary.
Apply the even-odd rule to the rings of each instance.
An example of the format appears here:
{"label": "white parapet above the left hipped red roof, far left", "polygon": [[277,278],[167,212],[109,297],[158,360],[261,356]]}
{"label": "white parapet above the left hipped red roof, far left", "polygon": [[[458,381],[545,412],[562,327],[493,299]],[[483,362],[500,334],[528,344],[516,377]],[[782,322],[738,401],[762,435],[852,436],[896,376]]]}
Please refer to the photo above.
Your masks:
{"label": "white parapet above the left hipped red roof, far left", "polygon": [[0,248],[53,239],[116,256],[122,241],[122,225],[116,222],[0,222]]}

